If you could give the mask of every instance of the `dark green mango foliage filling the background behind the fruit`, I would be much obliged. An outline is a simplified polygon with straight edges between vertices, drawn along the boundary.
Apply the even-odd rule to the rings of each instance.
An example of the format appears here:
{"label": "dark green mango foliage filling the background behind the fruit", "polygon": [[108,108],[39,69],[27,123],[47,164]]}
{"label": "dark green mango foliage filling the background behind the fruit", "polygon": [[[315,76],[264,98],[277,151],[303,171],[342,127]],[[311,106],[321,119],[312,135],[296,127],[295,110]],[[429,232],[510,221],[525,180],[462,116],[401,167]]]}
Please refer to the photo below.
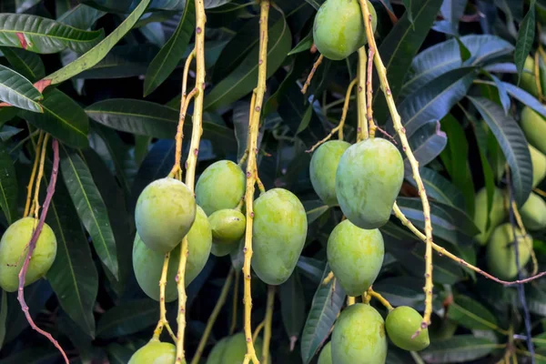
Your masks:
{"label": "dark green mango foliage filling the background behind the fruit", "polygon": [[[195,7],[191,0],[72,3],[0,3],[0,99],[12,105],[0,108],[4,212],[0,223],[5,228],[22,215],[33,137],[37,130],[45,130],[61,142],[62,178],[47,218],[58,251],[46,279],[25,289],[30,313],[59,339],[74,362],[107,357],[111,363],[126,363],[150,338],[159,315],[157,302],[144,295],[133,274],[133,212],[140,191],[165,177],[174,163],[181,67],[193,48]],[[531,159],[516,120],[522,105],[542,116],[546,108],[517,86],[517,75],[533,45],[535,22],[541,21],[546,7],[531,1],[531,10],[524,13],[521,1],[403,3],[373,2],[379,16],[379,53],[432,198],[434,238],[485,268],[483,248],[472,242],[478,232],[471,218],[474,191],[482,186],[492,191],[495,184],[504,183],[506,161],[513,172],[516,201],[521,205],[531,192]],[[271,348],[279,363],[314,360],[345,297],[335,282],[320,284],[329,272],[325,254],[329,232],[341,216],[313,192],[305,150],[336,126],[341,97],[355,76],[357,60],[354,55],[345,61],[325,60],[308,94],[300,93],[316,56],[311,52],[312,24],[320,4],[278,0],[269,20],[259,176],[267,188],[286,187],[298,194],[309,224],[298,268],[278,288]],[[197,172],[217,159],[241,157],[249,93],[258,76],[256,4],[206,0],[205,5],[207,95]],[[541,36],[536,38],[541,42]],[[44,89],[44,80],[52,86]],[[394,135],[377,77],[374,90],[374,116]],[[357,125],[354,104],[349,106],[345,130],[350,141]],[[185,128],[189,135],[189,120]],[[414,184],[407,173],[398,204],[422,227]],[[387,254],[374,289],[394,306],[422,309],[422,244],[394,218],[381,231]],[[543,237],[534,238],[543,264]],[[211,256],[187,290],[188,358],[231,266],[241,268],[240,254]],[[529,354],[521,340],[509,342],[507,336],[524,332],[515,288],[502,288],[438,256],[434,283],[431,345],[420,353],[422,359],[486,360],[502,356],[507,344],[521,357]],[[266,288],[258,278],[252,284],[256,327],[264,317]],[[241,286],[230,298],[241,300]],[[541,325],[546,322],[541,321],[546,317],[546,282],[528,285],[525,298],[537,358],[546,360]],[[232,300],[228,302],[210,345],[228,333],[233,311]],[[236,327],[241,329],[238,306]],[[173,308],[167,305],[169,321],[175,325]],[[2,364],[59,359],[56,349],[28,328],[15,294],[5,292],[0,299],[0,347]],[[409,353],[389,349],[389,363],[412,360]]]}

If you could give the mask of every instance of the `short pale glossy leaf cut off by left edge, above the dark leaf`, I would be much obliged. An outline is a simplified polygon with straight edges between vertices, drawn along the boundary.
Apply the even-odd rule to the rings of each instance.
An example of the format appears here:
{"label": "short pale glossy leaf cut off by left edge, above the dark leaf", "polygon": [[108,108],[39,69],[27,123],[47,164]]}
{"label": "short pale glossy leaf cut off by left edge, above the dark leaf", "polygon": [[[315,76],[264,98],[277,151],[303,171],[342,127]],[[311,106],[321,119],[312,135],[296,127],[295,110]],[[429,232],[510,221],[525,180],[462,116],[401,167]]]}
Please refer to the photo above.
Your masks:
{"label": "short pale glossy leaf cut off by left edge, above the dark leaf", "polygon": [[42,98],[42,94],[24,76],[0,65],[0,101],[35,113],[41,113],[43,112],[42,106],[36,100]]}

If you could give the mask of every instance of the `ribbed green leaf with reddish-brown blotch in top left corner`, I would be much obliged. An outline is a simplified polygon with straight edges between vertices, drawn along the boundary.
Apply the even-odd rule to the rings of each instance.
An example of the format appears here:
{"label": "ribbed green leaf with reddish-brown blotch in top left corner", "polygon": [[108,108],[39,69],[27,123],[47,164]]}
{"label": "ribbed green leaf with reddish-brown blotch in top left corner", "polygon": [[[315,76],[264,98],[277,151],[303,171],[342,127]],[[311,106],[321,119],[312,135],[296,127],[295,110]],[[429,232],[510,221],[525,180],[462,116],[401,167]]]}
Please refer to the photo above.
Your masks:
{"label": "ribbed green leaf with reddish-brown blotch in top left corner", "polygon": [[0,14],[0,45],[49,54],[66,47],[82,53],[96,45],[104,31],[86,31],[42,16]]}

